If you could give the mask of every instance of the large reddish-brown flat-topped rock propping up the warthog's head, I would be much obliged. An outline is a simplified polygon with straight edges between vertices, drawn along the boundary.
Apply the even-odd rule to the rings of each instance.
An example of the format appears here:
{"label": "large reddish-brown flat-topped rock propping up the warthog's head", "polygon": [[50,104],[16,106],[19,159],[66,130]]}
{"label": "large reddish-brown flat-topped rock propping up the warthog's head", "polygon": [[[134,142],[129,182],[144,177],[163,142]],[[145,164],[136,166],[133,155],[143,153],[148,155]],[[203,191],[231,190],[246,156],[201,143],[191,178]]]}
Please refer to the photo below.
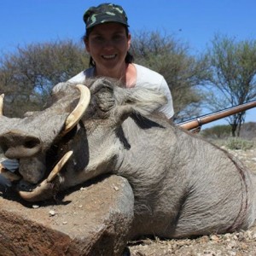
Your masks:
{"label": "large reddish-brown flat-topped rock propping up the warthog's head", "polygon": [[0,193],[0,255],[121,255],[133,203],[130,184],[114,175],[37,208]]}

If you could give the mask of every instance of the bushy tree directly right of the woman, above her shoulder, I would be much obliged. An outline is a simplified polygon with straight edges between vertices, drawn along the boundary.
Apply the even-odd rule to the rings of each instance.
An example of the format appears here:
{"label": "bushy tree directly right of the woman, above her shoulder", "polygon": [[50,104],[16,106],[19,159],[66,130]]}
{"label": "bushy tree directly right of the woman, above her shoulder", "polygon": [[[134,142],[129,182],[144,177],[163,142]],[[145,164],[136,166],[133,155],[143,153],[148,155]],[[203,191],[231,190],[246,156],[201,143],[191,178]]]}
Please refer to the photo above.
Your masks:
{"label": "bushy tree directly right of the woman, above her shoulder", "polygon": [[183,121],[201,112],[203,95],[197,86],[207,79],[205,57],[189,55],[189,46],[160,32],[137,32],[131,41],[135,61],[162,74],[170,90],[174,119]]}

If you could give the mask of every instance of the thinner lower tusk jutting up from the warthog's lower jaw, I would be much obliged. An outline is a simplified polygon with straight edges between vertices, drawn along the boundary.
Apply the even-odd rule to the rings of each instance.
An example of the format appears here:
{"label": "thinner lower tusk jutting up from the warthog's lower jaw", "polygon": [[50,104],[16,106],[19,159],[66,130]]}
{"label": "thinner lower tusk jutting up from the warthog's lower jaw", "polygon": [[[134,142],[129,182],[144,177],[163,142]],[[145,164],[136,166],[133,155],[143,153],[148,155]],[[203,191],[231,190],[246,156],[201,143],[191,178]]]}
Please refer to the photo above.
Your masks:
{"label": "thinner lower tusk jutting up from the warthog's lower jaw", "polygon": [[50,183],[56,175],[61,171],[61,168],[67,163],[67,160],[71,157],[73,151],[68,151],[63,155],[61,160],[55,165],[53,170],[49,173],[49,176],[44,179],[42,183],[40,183],[32,192],[27,191],[18,191],[20,197],[22,197],[26,201],[42,201],[49,199],[55,193],[55,188],[52,183]]}

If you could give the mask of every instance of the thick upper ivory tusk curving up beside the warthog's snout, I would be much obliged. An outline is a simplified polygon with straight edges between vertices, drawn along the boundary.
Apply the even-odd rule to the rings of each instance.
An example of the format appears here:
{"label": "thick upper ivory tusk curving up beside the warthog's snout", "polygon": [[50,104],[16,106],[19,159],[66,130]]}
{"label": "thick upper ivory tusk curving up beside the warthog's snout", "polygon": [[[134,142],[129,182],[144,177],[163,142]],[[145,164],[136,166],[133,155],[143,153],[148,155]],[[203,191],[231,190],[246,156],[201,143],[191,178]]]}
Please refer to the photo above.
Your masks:
{"label": "thick upper ivory tusk curving up beside the warthog's snout", "polygon": [[66,119],[65,130],[62,134],[65,135],[68,131],[71,131],[75,125],[78,124],[84,111],[90,103],[90,90],[84,84],[77,84],[76,87],[79,89],[81,96],[77,107],[70,113]]}

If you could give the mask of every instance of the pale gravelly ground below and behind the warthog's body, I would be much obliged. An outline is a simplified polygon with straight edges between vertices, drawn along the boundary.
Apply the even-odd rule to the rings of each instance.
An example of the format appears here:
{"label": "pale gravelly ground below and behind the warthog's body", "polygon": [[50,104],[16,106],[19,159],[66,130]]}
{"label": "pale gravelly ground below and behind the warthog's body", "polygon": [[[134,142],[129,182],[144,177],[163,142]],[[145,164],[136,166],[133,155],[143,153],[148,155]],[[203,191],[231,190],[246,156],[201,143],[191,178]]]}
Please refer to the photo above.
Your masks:
{"label": "pale gravelly ground below and behind the warthog's body", "polygon": [[[230,150],[249,169],[256,172],[256,148]],[[131,256],[256,256],[256,225],[250,230],[233,234],[201,236],[196,239],[132,241],[129,244]]]}

